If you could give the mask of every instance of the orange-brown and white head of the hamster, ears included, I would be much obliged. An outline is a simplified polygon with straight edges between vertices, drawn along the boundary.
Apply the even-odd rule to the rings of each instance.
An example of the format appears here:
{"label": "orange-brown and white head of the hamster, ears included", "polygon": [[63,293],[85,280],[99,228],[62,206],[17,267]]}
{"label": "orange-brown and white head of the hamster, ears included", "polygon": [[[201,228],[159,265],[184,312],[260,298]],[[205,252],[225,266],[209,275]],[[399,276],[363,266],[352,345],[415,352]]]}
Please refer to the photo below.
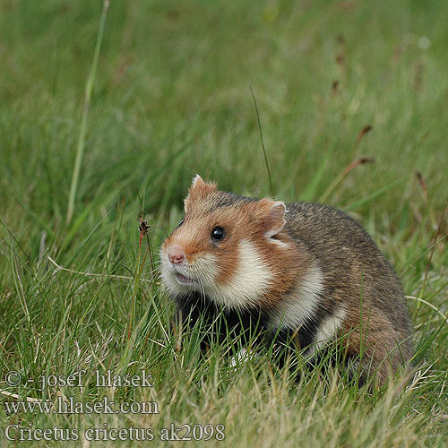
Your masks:
{"label": "orange-brown and white head of the hamster, ears included", "polygon": [[286,289],[295,277],[285,212],[283,202],[221,192],[194,177],[185,218],[160,250],[169,294],[198,292],[233,309],[268,306],[279,282]]}

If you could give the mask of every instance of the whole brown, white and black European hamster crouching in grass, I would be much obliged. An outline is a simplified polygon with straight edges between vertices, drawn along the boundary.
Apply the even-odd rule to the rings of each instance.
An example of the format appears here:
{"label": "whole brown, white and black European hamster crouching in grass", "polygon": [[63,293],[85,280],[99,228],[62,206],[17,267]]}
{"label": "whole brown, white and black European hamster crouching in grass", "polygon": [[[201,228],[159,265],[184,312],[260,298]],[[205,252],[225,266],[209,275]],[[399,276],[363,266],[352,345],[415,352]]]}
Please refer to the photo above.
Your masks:
{"label": "whole brown, white and black European hamster crouching in grass", "polygon": [[400,280],[366,230],[332,207],[238,196],[196,176],[160,258],[184,321],[220,314],[234,334],[293,334],[310,354],[342,338],[361,381],[384,383],[412,355]]}

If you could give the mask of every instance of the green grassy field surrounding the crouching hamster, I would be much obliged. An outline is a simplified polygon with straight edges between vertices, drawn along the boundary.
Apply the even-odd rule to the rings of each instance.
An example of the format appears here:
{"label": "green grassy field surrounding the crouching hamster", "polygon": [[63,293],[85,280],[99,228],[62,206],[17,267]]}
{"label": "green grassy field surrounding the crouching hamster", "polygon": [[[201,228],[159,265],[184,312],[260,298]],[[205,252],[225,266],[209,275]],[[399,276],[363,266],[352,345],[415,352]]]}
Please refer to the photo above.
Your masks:
{"label": "green grassy field surrounding the crouching hamster", "polygon": [[[446,2],[102,7],[0,2],[0,389],[13,403],[147,401],[159,413],[2,406],[2,445],[19,443],[5,434],[17,425],[10,438],[19,426],[30,439],[36,428],[79,435],[24,446],[108,446],[106,429],[129,437],[131,426],[177,446],[160,440],[162,428],[199,424],[195,436],[213,426],[211,440],[181,444],[446,446]],[[269,355],[231,371],[226,347],[199,357],[201,328],[170,333],[173,306],[151,271],[191,178],[270,194],[250,87],[275,197],[349,211],[401,276],[417,349],[410,383],[367,391],[337,370],[295,383]],[[151,230],[140,250],[141,210]],[[39,390],[41,375],[82,369],[82,387]],[[95,372],[108,370],[147,371],[152,387],[98,387]],[[84,440],[92,427],[97,442]]]}

